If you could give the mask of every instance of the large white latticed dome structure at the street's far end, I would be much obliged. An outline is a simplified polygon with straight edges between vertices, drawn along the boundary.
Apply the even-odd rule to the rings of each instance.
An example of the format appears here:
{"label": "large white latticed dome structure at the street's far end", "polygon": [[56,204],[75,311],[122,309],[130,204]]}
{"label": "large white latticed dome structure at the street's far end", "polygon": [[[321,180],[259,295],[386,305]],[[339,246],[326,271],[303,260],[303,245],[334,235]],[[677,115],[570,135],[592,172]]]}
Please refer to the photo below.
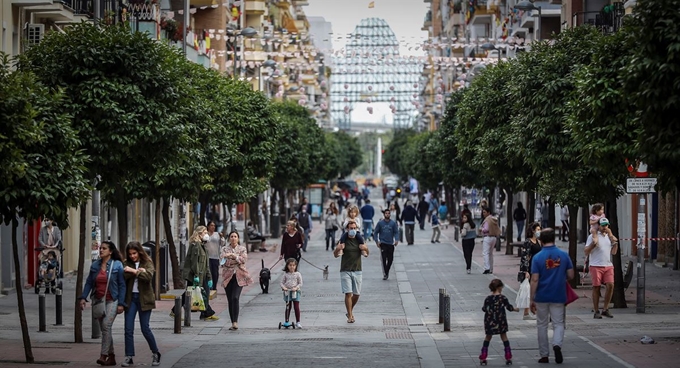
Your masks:
{"label": "large white latticed dome structure at the street's far end", "polygon": [[333,57],[333,122],[341,130],[352,129],[352,124],[366,127],[352,112],[361,108],[373,114],[375,105],[376,111],[392,115],[387,120],[394,128],[412,127],[422,91],[422,63],[399,55],[399,41],[384,19],[363,19],[348,38],[344,55]]}

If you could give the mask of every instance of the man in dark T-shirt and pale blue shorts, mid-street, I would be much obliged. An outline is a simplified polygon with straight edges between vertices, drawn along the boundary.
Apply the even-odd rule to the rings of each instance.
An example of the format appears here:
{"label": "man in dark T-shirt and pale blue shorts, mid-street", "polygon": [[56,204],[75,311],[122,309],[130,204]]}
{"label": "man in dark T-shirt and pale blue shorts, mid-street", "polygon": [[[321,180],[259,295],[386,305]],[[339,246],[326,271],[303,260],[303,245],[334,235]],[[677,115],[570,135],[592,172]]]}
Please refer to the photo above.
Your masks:
{"label": "man in dark T-shirt and pale blue shorts, mid-street", "polygon": [[340,285],[345,294],[347,323],[354,323],[354,307],[361,294],[361,252],[368,257],[368,247],[357,231],[353,220],[347,223],[347,232],[340,237],[340,244],[333,250],[333,256],[340,260]]}

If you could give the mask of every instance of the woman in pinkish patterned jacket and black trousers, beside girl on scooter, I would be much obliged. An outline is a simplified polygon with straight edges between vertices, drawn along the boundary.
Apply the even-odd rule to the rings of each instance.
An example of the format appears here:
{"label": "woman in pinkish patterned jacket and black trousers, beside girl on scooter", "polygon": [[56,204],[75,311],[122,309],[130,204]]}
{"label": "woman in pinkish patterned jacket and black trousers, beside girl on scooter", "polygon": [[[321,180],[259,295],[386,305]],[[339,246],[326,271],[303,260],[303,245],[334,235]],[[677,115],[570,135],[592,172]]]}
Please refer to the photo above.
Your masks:
{"label": "woman in pinkish patterned jacket and black trousers, beside girl on scooter", "polygon": [[229,233],[229,244],[222,248],[220,254],[220,264],[222,265],[222,287],[227,294],[229,303],[229,318],[231,327],[229,330],[238,330],[238,303],[241,297],[241,290],[244,286],[250,285],[253,279],[250,278],[246,262],[248,262],[248,250],[240,244],[238,232]]}

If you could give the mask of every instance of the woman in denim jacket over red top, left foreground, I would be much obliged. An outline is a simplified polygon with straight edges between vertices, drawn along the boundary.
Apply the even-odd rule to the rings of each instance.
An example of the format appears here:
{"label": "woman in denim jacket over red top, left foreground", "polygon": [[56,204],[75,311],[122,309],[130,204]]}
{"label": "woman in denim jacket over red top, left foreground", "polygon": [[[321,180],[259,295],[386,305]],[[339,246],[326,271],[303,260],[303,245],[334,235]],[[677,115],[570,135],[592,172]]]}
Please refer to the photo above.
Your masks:
{"label": "woman in denim jacket over red top, left foreground", "polygon": [[102,331],[101,356],[97,359],[99,365],[116,365],[111,327],[116,315],[123,313],[126,306],[123,299],[126,293],[123,273],[118,248],[113,242],[103,241],[99,246],[99,259],[90,266],[90,273],[80,295],[81,310],[85,309],[88,297],[92,298],[93,305],[104,303],[104,315],[98,319]]}

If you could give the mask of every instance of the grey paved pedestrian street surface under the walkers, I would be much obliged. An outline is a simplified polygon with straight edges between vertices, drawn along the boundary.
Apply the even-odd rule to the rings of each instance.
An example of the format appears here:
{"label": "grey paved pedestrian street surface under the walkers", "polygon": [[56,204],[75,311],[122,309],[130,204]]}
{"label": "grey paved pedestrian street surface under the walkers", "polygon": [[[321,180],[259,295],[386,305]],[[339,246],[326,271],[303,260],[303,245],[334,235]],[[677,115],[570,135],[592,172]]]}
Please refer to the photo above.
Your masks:
{"label": "grey paved pedestrian street surface under the walkers", "polygon": [[[382,204],[379,190],[372,198],[376,209]],[[376,215],[378,221],[379,215]],[[260,259],[271,267],[276,252],[253,253],[249,270],[256,284],[245,288],[241,296],[239,330],[231,326],[226,310],[224,290],[218,288],[211,305],[220,317],[216,322],[198,320],[194,313],[192,327],[182,334],[173,333],[168,317],[172,301],[157,302],[151,317],[163,367],[474,367],[484,337],[481,306],[489,294],[494,277],[507,285],[504,293],[512,303],[517,288],[519,258],[495,252],[495,275],[482,275],[481,241],[475,248],[471,275],[465,273],[460,244],[453,241],[454,227],[443,229],[441,243],[431,244],[429,225],[425,231],[416,226],[413,246],[400,244],[390,278],[382,280],[380,254],[371,242],[371,255],[364,259],[363,290],[355,308],[356,323],[348,324],[340,290],[339,259],[325,251],[323,225],[315,224],[308,252],[303,256],[313,265],[302,262],[304,278],[301,301],[302,329],[279,330],[285,304],[278,291],[282,263],[272,269],[270,294],[261,294],[257,285]],[[268,245],[278,244],[276,240]],[[560,244],[566,247],[566,243]],[[329,265],[328,280],[315,268]],[[635,280],[626,295],[627,309],[613,310],[613,319],[594,320],[590,306],[591,289],[578,289],[581,299],[567,308],[567,332],[563,345],[564,366],[571,367],[643,367],[674,365],[680,345],[678,325],[678,271],[648,264],[646,314],[635,313]],[[41,366],[97,366],[99,340],[90,339],[91,326],[84,326],[86,343],[73,341],[73,300],[75,277],[65,280],[64,326],[53,326],[54,296],[47,297],[47,333],[38,330],[38,296],[25,293],[28,324],[33,353]],[[665,289],[671,285],[671,289]],[[451,331],[443,332],[438,324],[438,293],[446,288],[451,295]],[[672,290],[672,291],[671,291]],[[673,293],[675,291],[675,293]],[[0,367],[25,366],[19,329],[16,296],[0,297]],[[85,316],[90,316],[89,308]],[[293,314],[291,315],[293,317]],[[116,359],[124,358],[123,320],[114,324]],[[538,367],[536,322],[522,320],[521,313],[509,313],[508,334],[514,366]],[[657,344],[642,345],[639,339],[649,335]],[[151,353],[139,329],[135,334],[138,366],[149,366]],[[551,357],[552,360],[552,357]],[[503,345],[495,337],[489,349],[489,366],[503,366]],[[554,363],[551,363],[554,364]],[[541,364],[540,366],[545,366]]]}

